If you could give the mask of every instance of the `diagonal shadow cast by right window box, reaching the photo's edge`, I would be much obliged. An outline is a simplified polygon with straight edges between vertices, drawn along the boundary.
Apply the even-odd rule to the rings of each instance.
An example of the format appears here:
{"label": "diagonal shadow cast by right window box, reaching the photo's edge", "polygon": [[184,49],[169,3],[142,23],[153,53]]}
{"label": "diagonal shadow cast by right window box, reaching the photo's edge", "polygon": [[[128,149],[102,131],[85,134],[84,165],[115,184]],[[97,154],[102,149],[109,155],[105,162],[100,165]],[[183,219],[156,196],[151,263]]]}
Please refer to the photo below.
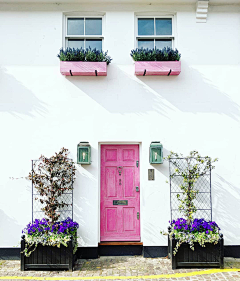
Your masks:
{"label": "diagonal shadow cast by right window box, reaching the photo's edge", "polygon": [[240,116],[238,104],[184,61],[177,77],[139,76],[139,79],[180,111],[225,114],[235,120]]}

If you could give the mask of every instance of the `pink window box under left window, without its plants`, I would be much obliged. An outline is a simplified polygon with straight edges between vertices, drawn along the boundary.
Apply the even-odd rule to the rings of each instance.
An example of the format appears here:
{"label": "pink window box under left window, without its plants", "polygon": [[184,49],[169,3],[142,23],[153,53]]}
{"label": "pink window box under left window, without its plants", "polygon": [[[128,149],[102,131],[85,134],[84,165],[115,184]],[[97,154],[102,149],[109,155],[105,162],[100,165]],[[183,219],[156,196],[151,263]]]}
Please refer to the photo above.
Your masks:
{"label": "pink window box under left window, without its plants", "polygon": [[107,76],[106,62],[60,61],[60,72],[66,76]]}

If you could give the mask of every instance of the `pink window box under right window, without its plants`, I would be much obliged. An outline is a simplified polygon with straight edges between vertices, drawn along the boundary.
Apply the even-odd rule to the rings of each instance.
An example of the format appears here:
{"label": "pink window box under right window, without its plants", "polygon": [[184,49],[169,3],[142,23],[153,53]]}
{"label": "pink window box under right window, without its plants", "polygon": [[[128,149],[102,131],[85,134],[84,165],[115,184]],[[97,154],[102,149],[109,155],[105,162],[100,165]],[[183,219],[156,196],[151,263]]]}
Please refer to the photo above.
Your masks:
{"label": "pink window box under right window, without its plants", "polygon": [[135,74],[147,75],[179,75],[180,61],[135,61]]}

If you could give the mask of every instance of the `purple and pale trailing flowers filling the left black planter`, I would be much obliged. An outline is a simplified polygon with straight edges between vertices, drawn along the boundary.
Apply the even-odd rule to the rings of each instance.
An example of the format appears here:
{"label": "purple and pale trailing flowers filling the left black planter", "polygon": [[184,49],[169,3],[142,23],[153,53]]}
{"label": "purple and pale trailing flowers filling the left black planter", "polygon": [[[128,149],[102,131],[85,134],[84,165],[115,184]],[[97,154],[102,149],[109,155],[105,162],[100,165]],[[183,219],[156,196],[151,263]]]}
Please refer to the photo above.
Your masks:
{"label": "purple and pale trailing flowers filling the left black planter", "polygon": [[57,246],[59,248],[61,245],[67,247],[67,243],[71,239],[73,239],[73,253],[75,253],[78,247],[78,227],[78,223],[70,218],[53,224],[47,219],[36,219],[33,223],[29,223],[22,231],[25,234],[25,256],[29,257],[36,250],[38,244]]}

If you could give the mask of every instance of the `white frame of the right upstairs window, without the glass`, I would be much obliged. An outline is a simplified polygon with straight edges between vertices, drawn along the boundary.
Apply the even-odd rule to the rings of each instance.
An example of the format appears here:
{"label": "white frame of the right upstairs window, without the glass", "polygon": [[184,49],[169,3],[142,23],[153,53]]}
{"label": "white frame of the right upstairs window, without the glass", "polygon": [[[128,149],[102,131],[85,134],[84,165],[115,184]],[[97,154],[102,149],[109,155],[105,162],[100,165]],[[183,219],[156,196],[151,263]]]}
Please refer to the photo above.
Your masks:
{"label": "white frame of the right upstairs window, without the glass", "polygon": [[[156,32],[156,19],[172,19],[172,35],[138,35],[138,19],[141,18],[149,18],[154,19],[154,33]],[[172,40],[172,48],[176,48],[176,17],[174,15],[144,15],[144,16],[136,16],[135,17],[135,48],[138,48],[138,40],[139,39],[153,39],[154,48],[155,48],[155,40],[156,39],[171,39]]]}

